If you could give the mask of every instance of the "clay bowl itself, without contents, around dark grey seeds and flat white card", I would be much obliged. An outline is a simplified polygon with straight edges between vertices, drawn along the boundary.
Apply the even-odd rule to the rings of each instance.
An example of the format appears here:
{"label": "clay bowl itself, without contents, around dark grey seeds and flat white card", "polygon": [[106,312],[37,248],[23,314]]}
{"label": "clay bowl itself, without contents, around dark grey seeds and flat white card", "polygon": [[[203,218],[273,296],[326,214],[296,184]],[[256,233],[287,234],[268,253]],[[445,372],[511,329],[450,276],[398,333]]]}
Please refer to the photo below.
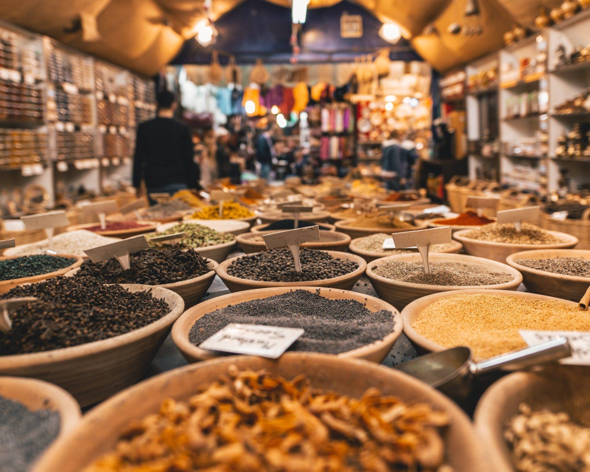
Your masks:
{"label": "clay bowl itself, without contents, around dark grey seeds and flat white card", "polygon": [[188,360],[188,362],[198,362],[199,360],[217,358],[219,357],[218,353],[198,348],[189,341],[188,335],[196,320],[207,313],[214,312],[215,310],[225,308],[230,305],[233,306],[244,301],[266,299],[268,297],[288,293],[293,290],[307,290],[310,292],[319,293],[319,295],[322,297],[332,300],[356,300],[359,303],[366,304],[367,309],[369,309],[371,312],[387,310],[388,312],[394,314],[394,330],[389,333],[389,335],[385,336],[382,340],[362,346],[361,348],[342,352],[337,355],[339,357],[381,362],[391,350],[391,346],[394,345],[395,340],[398,339],[399,335],[401,335],[402,320],[401,316],[399,316],[399,312],[389,303],[379,300],[376,297],[371,297],[362,293],[355,293],[348,290],[326,289],[318,287],[281,287],[276,289],[255,289],[240,291],[221,297],[215,297],[214,299],[199,303],[197,306],[186,310],[186,312],[184,312],[182,316],[176,320],[176,323],[172,327],[172,339],[176,344],[176,347],[181,350],[182,355],[186,360]]}

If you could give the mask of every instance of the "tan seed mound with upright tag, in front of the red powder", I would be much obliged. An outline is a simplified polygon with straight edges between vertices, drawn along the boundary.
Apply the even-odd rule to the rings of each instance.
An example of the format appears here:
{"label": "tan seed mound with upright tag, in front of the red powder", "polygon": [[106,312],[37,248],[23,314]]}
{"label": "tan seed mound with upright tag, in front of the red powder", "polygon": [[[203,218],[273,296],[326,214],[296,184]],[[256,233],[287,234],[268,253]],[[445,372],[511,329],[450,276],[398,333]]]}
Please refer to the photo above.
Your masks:
{"label": "tan seed mound with upright tag, in front of the red powder", "polygon": [[523,222],[520,232],[516,231],[512,223],[494,223],[468,231],[463,237],[506,244],[559,244],[565,242],[550,232],[526,222]]}

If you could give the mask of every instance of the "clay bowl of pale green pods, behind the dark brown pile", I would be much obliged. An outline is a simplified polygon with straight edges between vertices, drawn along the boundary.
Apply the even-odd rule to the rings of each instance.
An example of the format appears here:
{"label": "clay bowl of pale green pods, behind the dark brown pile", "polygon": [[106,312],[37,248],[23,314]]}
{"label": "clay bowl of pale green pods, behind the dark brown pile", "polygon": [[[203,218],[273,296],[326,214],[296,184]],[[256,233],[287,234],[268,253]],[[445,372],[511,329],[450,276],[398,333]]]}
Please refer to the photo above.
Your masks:
{"label": "clay bowl of pale green pods, behind the dark brown pile", "polygon": [[183,222],[160,225],[158,231],[153,234],[160,236],[174,232],[185,232],[187,235],[186,238],[177,243],[180,245],[179,247],[192,248],[202,257],[214,260],[217,263],[224,261],[228,254],[234,250],[236,244],[234,234],[215,231],[212,228],[195,223]]}

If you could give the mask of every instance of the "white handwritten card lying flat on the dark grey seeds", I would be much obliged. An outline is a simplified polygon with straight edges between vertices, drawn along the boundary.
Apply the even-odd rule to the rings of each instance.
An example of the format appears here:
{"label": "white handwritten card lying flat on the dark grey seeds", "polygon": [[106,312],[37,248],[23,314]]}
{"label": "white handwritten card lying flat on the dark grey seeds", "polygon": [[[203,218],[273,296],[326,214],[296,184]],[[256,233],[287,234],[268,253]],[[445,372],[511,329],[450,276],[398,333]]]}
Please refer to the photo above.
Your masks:
{"label": "white handwritten card lying flat on the dark grey seeds", "polygon": [[199,348],[277,359],[303,332],[301,328],[231,323],[205,339]]}

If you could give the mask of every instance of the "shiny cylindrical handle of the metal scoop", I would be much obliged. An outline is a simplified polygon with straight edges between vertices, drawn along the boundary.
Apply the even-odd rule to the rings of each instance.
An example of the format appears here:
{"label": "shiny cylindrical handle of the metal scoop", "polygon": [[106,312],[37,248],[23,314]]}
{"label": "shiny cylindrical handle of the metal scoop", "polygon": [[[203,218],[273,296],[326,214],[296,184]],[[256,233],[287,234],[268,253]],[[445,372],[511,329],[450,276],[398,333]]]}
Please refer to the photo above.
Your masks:
{"label": "shiny cylindrical handle of the metal scoop", "polygon": [[472,363],[471,373],[478,375],[484,372],[496,371],[497,369],[524,369],[551,360],[558,360],[572,355],[572,347],[566,337],[556,336],[544,343],[528,348],[515,350],[483,362]]}

